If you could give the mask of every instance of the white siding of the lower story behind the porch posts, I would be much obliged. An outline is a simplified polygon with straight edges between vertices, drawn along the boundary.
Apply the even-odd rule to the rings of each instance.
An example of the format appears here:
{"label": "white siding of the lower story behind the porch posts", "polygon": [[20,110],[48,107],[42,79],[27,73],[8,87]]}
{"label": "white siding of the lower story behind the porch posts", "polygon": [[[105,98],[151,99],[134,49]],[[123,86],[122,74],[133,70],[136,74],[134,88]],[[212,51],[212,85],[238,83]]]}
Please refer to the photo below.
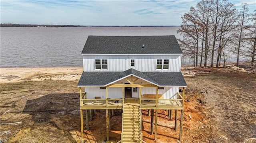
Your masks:
{"label": "white siding of the lower story behind the porch posts", "polygon": [[[88,99],[94,99],[96,96],[106,98],[106,89],[100,89],[99,87],[86,87],[85,92]],[[164,87],[164,89],[158,90],[158,94],[162,94],[164,99],[176,99],[177,92],[179,92],[178,87]],[[156,88],[142,88],[141,94],[156,94]],[[108,98],[122,98],[122,88],[108,88]]]}

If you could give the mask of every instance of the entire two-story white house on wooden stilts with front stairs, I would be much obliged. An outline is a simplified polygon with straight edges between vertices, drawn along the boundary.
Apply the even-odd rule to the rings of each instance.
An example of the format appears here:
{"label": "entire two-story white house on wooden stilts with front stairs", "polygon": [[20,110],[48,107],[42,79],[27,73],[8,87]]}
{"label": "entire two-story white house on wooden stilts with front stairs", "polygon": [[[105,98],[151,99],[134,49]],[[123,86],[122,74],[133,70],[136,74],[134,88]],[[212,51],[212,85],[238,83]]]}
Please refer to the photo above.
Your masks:
{"label": "entire two-story white house on wooden stilts with front stairs", "polygon": [[181,110],[181,140],[187,84],[180,72],[182,50],[175,36],[88,36],[82,56],[84,71],[78,82],[82,140],[83,110],[92,109],[106,110],[107,141],[109,114],[122,110],[121,143],[142,143],[142,109],[156,111],[155,139],[157,110],[175,110],[175,130]]}

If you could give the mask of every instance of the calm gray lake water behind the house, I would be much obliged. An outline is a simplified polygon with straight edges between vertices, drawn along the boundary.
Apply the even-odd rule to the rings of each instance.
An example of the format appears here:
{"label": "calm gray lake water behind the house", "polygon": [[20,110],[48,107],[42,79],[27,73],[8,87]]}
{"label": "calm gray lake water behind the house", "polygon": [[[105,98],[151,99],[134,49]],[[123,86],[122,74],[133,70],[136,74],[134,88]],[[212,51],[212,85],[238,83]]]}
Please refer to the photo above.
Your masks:
{"label": "calm gray lake water behind the house", "polygon": [[179,27],[1,27],[0,67],[82,67],[88,35],[175,35]]}

